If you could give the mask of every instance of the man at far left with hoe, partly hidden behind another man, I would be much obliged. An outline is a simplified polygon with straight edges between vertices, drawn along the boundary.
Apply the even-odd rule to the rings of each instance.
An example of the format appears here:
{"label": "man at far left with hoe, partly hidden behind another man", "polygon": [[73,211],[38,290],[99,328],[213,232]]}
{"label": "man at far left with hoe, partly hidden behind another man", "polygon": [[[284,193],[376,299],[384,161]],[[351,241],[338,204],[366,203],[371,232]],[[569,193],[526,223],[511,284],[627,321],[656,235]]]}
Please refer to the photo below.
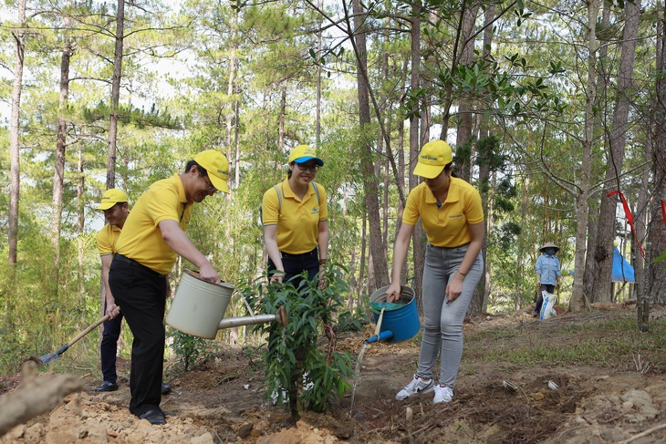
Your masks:
{"label": "man at far left with hoe, partly hidden behind another man", "polygon": [[[118,350],[118,339],[122,323],[120,307],[109,288],[109,267],[116,253],[116,243],[120,237],[122,226],[130,214],[127,194],[117,188],[104,191],[102,200],[97,207],[104,212],[104,217],[109,222],[97,233],[97,248],[102,263],[102,281],[104,282],[104,314],[109,315],[109,320],[104,323],[102,341],[99,346],[101,357],[102,376],[104,379],[96,392],[109,392],[118,390],[118,375],[116,373],[116,356]],[[161,393],[165,395],[172,390],[169,384],[161,384]]]}

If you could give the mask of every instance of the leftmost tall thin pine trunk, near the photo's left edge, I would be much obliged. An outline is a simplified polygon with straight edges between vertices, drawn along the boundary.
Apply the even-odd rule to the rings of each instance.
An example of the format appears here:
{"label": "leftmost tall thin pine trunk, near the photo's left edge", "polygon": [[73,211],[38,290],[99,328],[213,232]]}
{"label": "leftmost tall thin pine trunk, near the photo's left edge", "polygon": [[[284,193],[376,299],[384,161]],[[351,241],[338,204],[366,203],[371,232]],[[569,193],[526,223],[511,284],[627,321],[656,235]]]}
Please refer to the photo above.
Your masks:
{"label": "leftmost tall thin pine trunk, near the photo's left edge", "polygon": [[10,265],[16,265],[18,247],[18,197],[21,190],[21,167],[18,150],[19,115],[21,113],[21,91],[23,88],[23,57],[26,51],[26,0],[18,0],[19,27],[12,33],[16,41],[16,63],[14,65],[14,87],[12,88],[12,117],[9,123],[9,257]]}

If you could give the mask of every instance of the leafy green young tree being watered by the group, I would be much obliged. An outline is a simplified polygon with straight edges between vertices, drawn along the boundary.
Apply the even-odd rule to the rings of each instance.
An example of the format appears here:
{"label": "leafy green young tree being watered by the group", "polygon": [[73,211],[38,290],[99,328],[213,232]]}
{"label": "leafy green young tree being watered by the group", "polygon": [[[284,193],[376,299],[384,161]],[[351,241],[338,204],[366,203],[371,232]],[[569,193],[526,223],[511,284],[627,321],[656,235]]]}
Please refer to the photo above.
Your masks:
{"label": "leafy green young tree being watered by the group", "polygon": [[[342,305],[341,295],[349,292],[342,275],[339,269],[327,269],[328,286],[323,290],[307,278],[297,288],[292,283],[266,285],[265,277],[237,287],[256,313],[276,313],[280,306],[286,309],[289,320],[285,328],[262,324],[252,329],[268,335],[267,396],[276,393],[277,403],[288,403],[293,418],[298,417],[299,404],[315,411],[330,409],[350,387],[345,377],[352,375],[352,357],[335,350],[335,334],[328,324]],[[328,346],[323,349],[317,347],[321,333],[328,337]],[[304,380],[307,390],[302,389]]]}

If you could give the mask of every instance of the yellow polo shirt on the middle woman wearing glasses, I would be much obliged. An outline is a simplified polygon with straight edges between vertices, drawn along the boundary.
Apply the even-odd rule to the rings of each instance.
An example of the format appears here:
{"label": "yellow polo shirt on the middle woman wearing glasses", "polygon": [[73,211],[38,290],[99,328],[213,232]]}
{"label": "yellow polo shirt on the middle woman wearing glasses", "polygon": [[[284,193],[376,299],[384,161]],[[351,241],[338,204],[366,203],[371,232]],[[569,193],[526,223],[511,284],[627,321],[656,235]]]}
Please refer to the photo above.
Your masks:
{"label": "yellow polo shirt on the middle woman wearing glasses", "polygon": [[307,184],[303,200],[298,199],[289,186],[289,180],[277,184],[282,194],[282,209],[274,187],[264,193],[261,204],[264,226],[277,225],[277,248],[283,253],[311,252],[319,244],[319,222],[328,219],[326,190],[317,183],[317,193],[312,183]]}

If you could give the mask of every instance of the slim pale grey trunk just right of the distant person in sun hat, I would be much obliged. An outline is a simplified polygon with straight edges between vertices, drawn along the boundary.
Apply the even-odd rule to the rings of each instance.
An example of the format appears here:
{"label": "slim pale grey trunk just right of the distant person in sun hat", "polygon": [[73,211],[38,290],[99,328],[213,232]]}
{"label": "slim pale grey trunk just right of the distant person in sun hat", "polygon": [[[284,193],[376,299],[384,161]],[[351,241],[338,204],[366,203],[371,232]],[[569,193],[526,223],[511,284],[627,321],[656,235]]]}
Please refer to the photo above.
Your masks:
{"label": "slim pale grey trunk just right of the distant person in sun hat", "polygon": [[597,18],[598,0],[588,2],[588,85],[585,98],[585,133],[582,146],[580,182],[576,195],[576,253],[574,259],[574,284],[569,301],[569,310],[582,311],[587,305],[583,292],[583,273],[585,271],[585,239],[588,225],[590,195],[590,173],[592,170],[592,143],[594,139],[594,105],[597,98]]}

